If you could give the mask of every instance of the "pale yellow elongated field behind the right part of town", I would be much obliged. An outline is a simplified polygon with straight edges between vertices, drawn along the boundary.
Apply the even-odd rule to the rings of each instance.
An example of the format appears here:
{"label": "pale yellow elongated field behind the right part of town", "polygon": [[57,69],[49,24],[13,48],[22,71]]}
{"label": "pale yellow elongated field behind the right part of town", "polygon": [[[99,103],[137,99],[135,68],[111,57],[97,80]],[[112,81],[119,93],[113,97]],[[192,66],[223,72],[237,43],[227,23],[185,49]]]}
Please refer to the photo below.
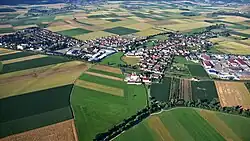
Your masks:
{"label": "pale yellow elongated field behind the right part of town", "polygon": [[210,23],[205,23],[205,22],[193,22],[189,24],[163,25],[161,27],[171,29],[174,31],[187,31],[195,28],[207,27],[210,25],[211,25]]}

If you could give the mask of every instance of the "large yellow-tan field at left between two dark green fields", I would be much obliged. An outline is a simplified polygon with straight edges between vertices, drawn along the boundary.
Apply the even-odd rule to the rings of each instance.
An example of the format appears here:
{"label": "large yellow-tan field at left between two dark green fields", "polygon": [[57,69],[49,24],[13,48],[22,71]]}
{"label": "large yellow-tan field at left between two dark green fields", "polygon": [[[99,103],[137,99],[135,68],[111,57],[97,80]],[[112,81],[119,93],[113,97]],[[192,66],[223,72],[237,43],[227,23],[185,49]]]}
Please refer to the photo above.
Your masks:
{"label": "large yellow-tan field at left between two dark green fields", "polygon": [[72,84],[87,69],[87,64],[71,61],[3,74],[0,75],[0,98]]}

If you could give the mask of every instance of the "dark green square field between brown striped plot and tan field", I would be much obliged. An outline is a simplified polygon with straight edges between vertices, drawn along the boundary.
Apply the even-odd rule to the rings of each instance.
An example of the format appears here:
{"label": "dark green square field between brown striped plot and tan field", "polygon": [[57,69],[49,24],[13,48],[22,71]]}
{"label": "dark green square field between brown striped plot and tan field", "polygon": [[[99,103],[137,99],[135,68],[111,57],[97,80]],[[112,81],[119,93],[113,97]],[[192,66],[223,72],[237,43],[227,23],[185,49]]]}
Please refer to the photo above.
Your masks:
{"label": "dark green square field between brown striped plot and tan field", "polygon": [[208,100],[218,98],[214,81],[192,81],[192,98],[193,100]]}

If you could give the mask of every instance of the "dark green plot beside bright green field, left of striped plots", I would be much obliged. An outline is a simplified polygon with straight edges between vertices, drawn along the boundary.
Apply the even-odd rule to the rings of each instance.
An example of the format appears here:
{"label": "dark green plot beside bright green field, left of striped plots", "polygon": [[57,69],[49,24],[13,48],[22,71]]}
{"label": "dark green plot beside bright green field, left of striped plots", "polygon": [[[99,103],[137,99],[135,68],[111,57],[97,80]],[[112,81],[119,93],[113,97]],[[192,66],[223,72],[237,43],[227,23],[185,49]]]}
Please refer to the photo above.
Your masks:
{"label": "dark green plot beside bright green field, left of striped plots", "polygon": [[152,84],[150,95],[158,101],[168,101],[170,95],[171,78],[164,78],[162,84]]}

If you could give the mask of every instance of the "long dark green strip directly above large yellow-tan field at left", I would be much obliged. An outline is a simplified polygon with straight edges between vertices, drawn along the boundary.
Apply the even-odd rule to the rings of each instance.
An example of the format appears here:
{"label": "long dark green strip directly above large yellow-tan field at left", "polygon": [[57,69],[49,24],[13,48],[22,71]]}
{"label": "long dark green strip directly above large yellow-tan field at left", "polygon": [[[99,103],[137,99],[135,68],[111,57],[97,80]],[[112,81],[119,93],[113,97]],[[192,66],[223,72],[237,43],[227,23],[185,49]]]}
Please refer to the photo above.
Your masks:
{"label": "long dark green strip directly above large yellow-tan field at left", "polygon": [[0,74],[20,71],[20,70],[25,70],[25,69],[31,69],[31,68],[37,68],[37,67],[42,67],[42,66],[47,66],[47,65],[52,65],[52,64],[58,64],[58,63],[63,63],[67,61],[69,61],[69,59],[57,57],[57,56],[50,56],[50,57],[43,57],[43,58],[32,59],[32,60],[27,60],[27,61],[21,61],[21,62],[4,65],[3,70]]}

